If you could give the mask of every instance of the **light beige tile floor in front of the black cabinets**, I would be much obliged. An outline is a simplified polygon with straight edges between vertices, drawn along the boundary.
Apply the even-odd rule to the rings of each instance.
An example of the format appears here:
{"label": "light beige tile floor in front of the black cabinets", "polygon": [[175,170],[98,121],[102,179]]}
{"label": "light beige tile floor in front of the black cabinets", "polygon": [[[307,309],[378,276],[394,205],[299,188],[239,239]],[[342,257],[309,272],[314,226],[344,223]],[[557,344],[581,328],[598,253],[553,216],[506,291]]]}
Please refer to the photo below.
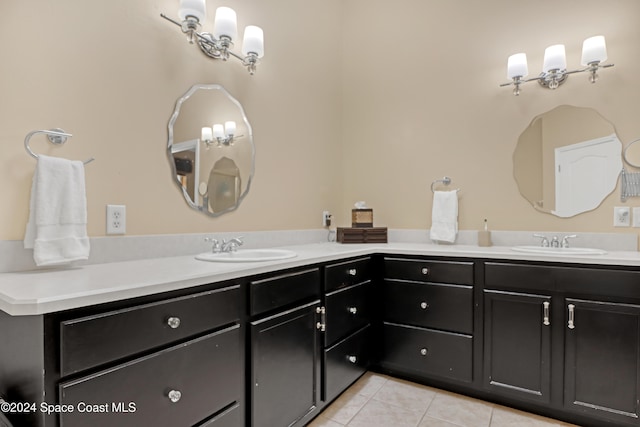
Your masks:
{"label": "light beige tile floor in front of the black cabinets", "polygon": [[569,427],[573,424],[367,372],[309,427]]}

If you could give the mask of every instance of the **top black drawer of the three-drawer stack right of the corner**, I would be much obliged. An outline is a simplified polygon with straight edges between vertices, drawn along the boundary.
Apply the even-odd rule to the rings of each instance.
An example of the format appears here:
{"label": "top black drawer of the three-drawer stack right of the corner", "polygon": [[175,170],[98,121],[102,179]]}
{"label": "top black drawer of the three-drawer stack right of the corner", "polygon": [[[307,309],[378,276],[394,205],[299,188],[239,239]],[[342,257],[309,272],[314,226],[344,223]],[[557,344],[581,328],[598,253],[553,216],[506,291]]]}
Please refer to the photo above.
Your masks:
{"label": "top black drawer of the three-drawer stack right of the corner", "polygon": [[385,278],[473,285],[473,262],[385,258]]}

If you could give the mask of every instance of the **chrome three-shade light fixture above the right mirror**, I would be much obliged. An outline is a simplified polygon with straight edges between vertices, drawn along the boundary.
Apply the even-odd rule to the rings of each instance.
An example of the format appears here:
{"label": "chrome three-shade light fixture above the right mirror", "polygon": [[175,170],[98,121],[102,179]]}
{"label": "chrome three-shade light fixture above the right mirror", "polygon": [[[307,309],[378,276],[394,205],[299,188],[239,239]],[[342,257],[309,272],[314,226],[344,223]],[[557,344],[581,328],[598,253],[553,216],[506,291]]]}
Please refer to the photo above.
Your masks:
{"label": "chrome three-shade light fixture above the right mirror", "polygon": [[569,74],[589,72],[589,81],[595,83],[598,80],[598,69],[613,67],[613,64],[602,64],[607,60],[607,46],[604,36],[594,36],[586,39],[582,44],[581,65],[586,68],[567,71],[567,58],[564,45],[549,46],[544,51],[542,73],[538,77],[525,79],[529,73],[527,55],[516,53],[507,60],[507,78],[509,83],[503,83],[500,87],[514,85],[513,94],[520,95],[522,83],[537,80],[541,86],[548,89],[557,89],[567,80]]}

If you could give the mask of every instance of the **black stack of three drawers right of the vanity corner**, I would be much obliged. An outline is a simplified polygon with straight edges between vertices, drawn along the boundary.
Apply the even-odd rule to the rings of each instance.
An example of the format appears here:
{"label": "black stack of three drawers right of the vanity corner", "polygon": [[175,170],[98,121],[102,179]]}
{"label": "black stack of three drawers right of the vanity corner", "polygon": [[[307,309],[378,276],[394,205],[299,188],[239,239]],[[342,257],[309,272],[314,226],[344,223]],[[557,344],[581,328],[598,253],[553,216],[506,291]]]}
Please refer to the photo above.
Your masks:
{"label": "black stack of three drawers right of the vanity corner", "polygon": [[473,381],[473,263],[384,258],[382,348],[391,374]]}

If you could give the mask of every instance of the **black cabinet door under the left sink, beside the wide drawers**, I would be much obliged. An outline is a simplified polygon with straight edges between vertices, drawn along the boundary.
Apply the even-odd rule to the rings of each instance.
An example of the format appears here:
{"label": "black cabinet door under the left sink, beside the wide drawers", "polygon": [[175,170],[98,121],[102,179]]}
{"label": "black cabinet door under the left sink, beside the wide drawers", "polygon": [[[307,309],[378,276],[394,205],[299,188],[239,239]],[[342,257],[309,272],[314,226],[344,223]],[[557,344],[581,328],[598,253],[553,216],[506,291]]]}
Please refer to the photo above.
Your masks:
{"label": "black cabinet door under the left sink, beside the wide drawers", "polygon": [[252,426],[289,426],[318,406],[320,301],[251,323]]}

